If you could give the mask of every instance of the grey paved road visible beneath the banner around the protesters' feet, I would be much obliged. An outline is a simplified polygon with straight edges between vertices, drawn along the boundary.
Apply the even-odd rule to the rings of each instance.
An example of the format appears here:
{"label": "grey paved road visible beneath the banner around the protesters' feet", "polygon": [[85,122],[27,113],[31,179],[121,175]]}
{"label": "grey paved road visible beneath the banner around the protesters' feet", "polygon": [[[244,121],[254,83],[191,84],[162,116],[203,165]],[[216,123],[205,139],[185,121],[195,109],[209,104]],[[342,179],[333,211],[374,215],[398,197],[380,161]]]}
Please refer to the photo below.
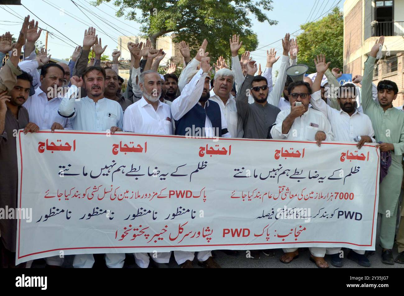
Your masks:
{"label": "grey paved road visible beneath the banner around the protesters' feet", "polygon": [[[377,237],[379,237],[379,225],[377,227]],[[261,258],[260,259],[251,259],[251,258],[246,258],[246,251],[239,251],[240,254],[237,256],[229,256],[223,253],[222,251],[216,250],[213,252],[215,256],[215,260],[221,265],[222,268],[316,268],[316,265],[309,260],[310,257],[310,252],[307,248],[301,248],[299,249],[299,258],[293,260],[290,264],[284,264],[282,263],[279,258],[282,256],[283,252],[281,249],[275,250],[275,256],[272,257],[267,257],[264,254],[261,253]],[[343,249],[345,256],[348,254],[349,250],[348,249]],[[393,248],[393,256],[396,258],[397,256],[397,246],[395,245]],[[72,262],[73,262],[73,257],[74,256],[66,256],[65,262],[63,264],[63,267],[65,268],[71,268],[72,267]],[[328,265],[330,265],[330,268],[338,268],[338,267],[333,267],[330,264],[330,260],[328,256],[326,255],[326,260],[328,262]],[[343,267],[342,268],[404,268],[404,264],[399,264],[395,263],[394,265],[387,265],[381,262],[381,247],[379,246],[379,239],[376,239],[376,252],[374,255],[368,257],[370,260],[370,263],[372,264],[371,267],[361,267],[355,262],[344,258],[343,259]],[[105,262],[103,260],[103,255],[101,254],[96,254],[95,255],[96,263],[94,265],[94,268],[106,268]],[[151,261],[151,260],[150,260]],[[164,266],[164,265],[160,265]],[[194,260],[194,266],[198,267],[197,260],[195,258]],[[45,267],[45,262],[44,260],[35,260],[34,263],[32,264],[32,268],[44,268]],[[151,268],[152,266],[149,266]],[[178,267],[177,263],[174,260],[174,256],[172,254],[170,263],[168,263],[168,266],[165,265],[165,267],[172,267],[176,268]],[[135,259],[131,254],[126,254],[126,259],[125,259],[125,265],[124,268],[139,268],[135,264]]]}

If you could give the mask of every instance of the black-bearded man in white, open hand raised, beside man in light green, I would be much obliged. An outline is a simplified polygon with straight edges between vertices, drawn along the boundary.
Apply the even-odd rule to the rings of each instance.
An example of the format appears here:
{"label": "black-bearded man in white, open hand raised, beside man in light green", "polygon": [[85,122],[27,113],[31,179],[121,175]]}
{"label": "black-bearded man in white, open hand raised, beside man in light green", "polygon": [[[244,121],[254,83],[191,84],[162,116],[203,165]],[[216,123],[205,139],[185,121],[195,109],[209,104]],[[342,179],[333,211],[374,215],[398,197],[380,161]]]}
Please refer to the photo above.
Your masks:
{"label": "black-bearded man in white, open hand raised, beside man in light green", "polygon": [[[337,101],[340,110],[330,107],[321,96],[321,81],[324,73],[328,70],[330,62],[326,63],[325,55],[317,56],[314,59],[316,64],[317,76],[313,83],[313,94],[310,98],[311,106],[321,111],[331,124],[335,141],[355,142],[359,136],[358,149],[365,143],[375,143],[375,132],[373,131],[372,122],[368,115],[359,113],[356,108],[356,87],[353,83],[346,83],[339,87],[337,91]],[[331,264],[336,267],[342,266],[342,258],[339,256],[341,247],[326,248],[326,254],[331,255]],[[365,256],[364,250],[351,250],[348,259],[357,262],[361,266],[369,267],[370,261]]]}

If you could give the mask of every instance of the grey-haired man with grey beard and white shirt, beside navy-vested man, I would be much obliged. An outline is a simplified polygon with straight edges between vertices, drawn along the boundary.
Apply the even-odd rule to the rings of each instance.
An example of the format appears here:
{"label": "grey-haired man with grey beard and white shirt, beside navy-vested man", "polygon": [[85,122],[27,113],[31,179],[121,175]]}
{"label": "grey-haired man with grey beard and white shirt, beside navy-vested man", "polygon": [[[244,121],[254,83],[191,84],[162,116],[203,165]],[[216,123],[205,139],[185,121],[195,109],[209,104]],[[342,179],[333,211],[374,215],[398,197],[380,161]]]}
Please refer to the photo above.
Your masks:
{"label": "grey-haired man with grey beard and white shirt, beside navy-vested man", "polygon": [[[160,101],[164,80],[154,70],[143,71],[139,76],[142,98],[126,108],[123,120],[125,132],[140,134],[173,134],[170,106]],[[141,268],[149,266],[147,253],[134,253],[135,262]],[[158,253],[153,260],[168,263],[171,252]]]}

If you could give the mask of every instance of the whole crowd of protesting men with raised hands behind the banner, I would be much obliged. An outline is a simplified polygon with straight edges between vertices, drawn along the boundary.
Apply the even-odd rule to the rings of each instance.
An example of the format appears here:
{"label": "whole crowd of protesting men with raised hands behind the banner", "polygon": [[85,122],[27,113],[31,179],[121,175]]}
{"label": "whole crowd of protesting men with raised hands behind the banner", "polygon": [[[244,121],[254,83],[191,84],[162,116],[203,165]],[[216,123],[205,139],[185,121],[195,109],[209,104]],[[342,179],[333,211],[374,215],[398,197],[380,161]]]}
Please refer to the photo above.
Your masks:
{"label": "whole crowd of protesting men with raised hands behind the banner", "polygon": [[[274,49],[267,50],[266,67],[259,73],[250,52],[245,51],[239,59],[242,41],[237,35],[229,40],[231,69],[219,57],[214,75],[206,40],[192,59],[189,45],[179,44],[184,66],[179,77],[174,74],[174,64],[164,76],[158,73],[165,55],[162,49],[154,49],[149,40],[144,44],[129,42],[130,79],[122,93],[123,79],[118,75],[120,52],[112,53],[112,65],[101,67],[106,46],[101,45],[95,28],[84,32],[82,46],[74,50],[68,65],[50,62],[43,49],[36,53],[35,42],[40,34],[38,22],[30,21],[28,16],[15,43],[9,32],[0,37],[0,56],[9,57],[0,70],[1,208],[17,208],[18,169],[13,134],[19,129],[25,134],[44,129],[73,129],[185,135],[194,126],[204,129],[206,137],[308,140],[319,146],[322,141],[357,142],[358,149],[365,143],[377,143],[380,152],[391,158],[385,164],[387,174],[379,186],[380,256],[385,264],[404,263],[404,208],[400,213],[399,203],[404,109],[393,107],[399,92],[395,82],[382,80],[377,86],[372,84],[376,56],[384,37],[376,40],[370,50],[363,76],[353,73],[357,74],[353,81],[343,85],[337,80],[342,72],[330,69],[324,55],[313,57],[317,71],[313,79],[293,81],[287,76],[286,69],[296,64],[299,53],[297,41],[290,39],[289,34],[282,39],[282,56],[276,57]],[[89,61],[91,48],[95,57]],[[280,67],[273,84],[274,63],[280,63]],[[1,267],[15,267],[16,229],[16,220],[0,219]],[[398,256],[393,258],[395,241]],[[309,248],[310,260],[326,268],[327,254],[332,265],[341,267],[345,260],[340,256],[341,247]],[[193,267],[194,252],[173,252],[179,266]],[[286,264],[299,256],[297,248],[285,248],[283,252],[280,260]],[[369,253],[358,247],[346,257],[368,267]],[[274,256],[274,250],[252,250],[251,258],[259,259],[262,254]],[[139,252],[133,255],[136,264],[146,268],[150,258],[157,264],[167,264],[171,252],[158,256]],[[202,267],[220,267],[210,251],[197,252],[196,256]],[[105,254],[107,267],[122,268],[124,260],[125,254]],[[73,266],[90,268],[94,262],[92,254],[78,254]],[[63,258],[46,258],[46,264],[60,267]]]}

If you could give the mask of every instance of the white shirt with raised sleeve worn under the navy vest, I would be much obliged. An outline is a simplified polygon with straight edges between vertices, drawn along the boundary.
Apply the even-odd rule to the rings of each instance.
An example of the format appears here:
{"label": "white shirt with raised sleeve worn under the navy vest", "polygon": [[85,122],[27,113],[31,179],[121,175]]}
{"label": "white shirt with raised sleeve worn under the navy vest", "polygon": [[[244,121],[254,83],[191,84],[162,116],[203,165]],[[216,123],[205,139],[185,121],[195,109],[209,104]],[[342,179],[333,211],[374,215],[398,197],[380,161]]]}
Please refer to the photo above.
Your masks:
{"label": "white shirt with raised sleeve worn under the navy vest", "polygon": [[[177,99],[175,99],[173,103],[171,103],[171,113],[173,114],[174,120],[180,120],[196,104],[202,106],[201,103],[199,103],[199,99],[202,95],[206,75],[207,73],[203,73],[203,70],[200,69],[198,73],[196,73],[195,76],[191,79],[191,81],[184,86],[179,97],[177,97]],[[207,106],[209,106],[209,100],[206,101],[204,108],[206,109]],[[223,130],[227,128],[227,122],[222,108],[220,108],[220,115],[222,123],[221,129]],[[212,122],[208,118],[207,114],[205,120],[205,137],[213,137]],[[230,138],[231,132],[222,134],[222,137]]]}

